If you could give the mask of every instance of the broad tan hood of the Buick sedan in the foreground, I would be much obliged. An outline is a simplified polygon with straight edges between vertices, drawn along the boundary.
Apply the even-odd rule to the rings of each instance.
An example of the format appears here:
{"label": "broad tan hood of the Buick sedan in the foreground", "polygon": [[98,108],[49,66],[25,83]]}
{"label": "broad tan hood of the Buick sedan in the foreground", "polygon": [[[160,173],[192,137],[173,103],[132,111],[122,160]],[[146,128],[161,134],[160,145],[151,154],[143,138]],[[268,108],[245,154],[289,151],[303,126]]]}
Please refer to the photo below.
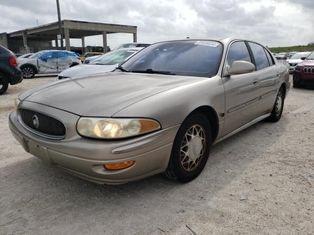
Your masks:
{"label": "broad tan hood of the Buick sedan in the foreground", "polygon": [[207,78],[108,72],[48,83],[26,91],[19,98],[79,116],[111,117],[148,96],[204,79]]}

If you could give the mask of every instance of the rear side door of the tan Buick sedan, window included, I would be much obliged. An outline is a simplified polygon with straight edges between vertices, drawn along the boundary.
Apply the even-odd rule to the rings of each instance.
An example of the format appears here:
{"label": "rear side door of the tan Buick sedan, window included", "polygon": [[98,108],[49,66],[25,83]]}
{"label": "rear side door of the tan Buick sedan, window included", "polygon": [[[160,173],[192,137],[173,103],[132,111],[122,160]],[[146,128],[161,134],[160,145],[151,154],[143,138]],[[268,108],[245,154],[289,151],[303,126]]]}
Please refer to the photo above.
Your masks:
{"label": "rear side door of the tan Buick sedan, window included", "polygon": [[253,42],[248,42],[248,46],[254,56],[256,73],[259,75],[261,113],[271,112],[280,87],[281,67],[275,64],[266,48]]}

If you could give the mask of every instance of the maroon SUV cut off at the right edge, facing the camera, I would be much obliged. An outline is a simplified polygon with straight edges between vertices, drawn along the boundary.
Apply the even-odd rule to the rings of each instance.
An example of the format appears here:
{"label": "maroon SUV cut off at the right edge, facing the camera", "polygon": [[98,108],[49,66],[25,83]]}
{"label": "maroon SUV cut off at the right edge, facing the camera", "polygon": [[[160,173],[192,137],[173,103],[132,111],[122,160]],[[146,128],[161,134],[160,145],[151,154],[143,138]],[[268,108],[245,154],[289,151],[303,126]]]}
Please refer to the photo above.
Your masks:
{"label": "maroon SUV cut off at the right edge, facing the camera", "polygon": [[302,57],[293,71],[293,87],[314,85],[314,51],[308,57]]}

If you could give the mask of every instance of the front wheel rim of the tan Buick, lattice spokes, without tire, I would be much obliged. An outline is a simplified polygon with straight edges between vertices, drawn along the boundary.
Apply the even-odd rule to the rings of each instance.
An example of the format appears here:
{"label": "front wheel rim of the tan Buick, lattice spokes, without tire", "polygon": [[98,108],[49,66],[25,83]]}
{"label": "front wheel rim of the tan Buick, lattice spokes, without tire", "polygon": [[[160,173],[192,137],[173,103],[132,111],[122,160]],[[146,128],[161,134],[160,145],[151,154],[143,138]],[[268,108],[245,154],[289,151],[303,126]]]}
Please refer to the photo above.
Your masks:
{"label": "front wheel rim of the tan Buick, lattice spokes, without tire", "polygon": [[185,171],[193,171],[202,162],[206,149],[206,134],[201,125],[191,126],[181,143],[181,165]]}

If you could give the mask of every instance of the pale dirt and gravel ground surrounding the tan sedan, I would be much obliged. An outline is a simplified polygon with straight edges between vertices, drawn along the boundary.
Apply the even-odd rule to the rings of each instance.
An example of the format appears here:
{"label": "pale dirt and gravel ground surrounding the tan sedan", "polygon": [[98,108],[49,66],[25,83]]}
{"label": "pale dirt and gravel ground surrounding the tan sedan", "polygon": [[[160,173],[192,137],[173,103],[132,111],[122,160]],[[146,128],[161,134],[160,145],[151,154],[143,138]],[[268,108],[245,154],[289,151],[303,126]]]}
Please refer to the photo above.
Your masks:
{"label": "pale dirt and gravel ground surrounding the tan sedan", "polygon": [[14,98],[53,78],[0,96],[1,235],[193,235],[187,226],[196,235],[314,235],[314,89],[291,88],[279,122],[214,145],[188,184],[157,175],[109,186],[44,164],[11,136]]}

